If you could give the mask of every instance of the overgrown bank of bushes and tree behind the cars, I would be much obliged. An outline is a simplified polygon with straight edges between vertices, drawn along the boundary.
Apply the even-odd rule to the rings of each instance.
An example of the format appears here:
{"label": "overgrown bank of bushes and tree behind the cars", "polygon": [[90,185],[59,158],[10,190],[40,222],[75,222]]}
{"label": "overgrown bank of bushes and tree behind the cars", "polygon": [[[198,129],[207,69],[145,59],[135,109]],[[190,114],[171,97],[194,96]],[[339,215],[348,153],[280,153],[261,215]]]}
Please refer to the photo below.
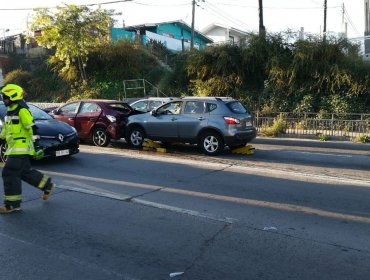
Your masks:
{"label": "overgrown bank of bushes and tree behind the cars", "polygon": [[232,96],[260,115],[370,111],[370,65],[345,39],[251,34],[240,46],[172,54],[156,41],[145,47],[110,42],[111,14],[73,5],[54,14],[40,10],[31,30],[42,29],[36,40],[50,51],[37,64],[11,59],[6,82],[20,83],[37,101],[122,98],[124,80],[146,79],[167,96]]}

